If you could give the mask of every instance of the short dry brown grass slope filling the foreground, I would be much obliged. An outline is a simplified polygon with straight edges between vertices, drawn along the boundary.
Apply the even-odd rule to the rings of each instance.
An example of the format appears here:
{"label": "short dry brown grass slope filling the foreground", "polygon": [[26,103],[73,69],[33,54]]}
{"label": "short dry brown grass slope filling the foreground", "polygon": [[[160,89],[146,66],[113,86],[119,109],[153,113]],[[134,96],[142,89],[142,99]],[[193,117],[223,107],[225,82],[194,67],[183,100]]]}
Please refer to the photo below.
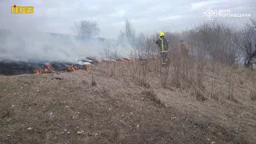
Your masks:
{"label": "short dry brown grass slope filling the foreground", "polygon": [[106,67],[0,76],[0,143],[256,143],[251,72],[236,71],[235,101],[222,75],[217,96],[201,102],[190,89],[163,89],[157,77],[140,86],[122,62],[115,76]]}

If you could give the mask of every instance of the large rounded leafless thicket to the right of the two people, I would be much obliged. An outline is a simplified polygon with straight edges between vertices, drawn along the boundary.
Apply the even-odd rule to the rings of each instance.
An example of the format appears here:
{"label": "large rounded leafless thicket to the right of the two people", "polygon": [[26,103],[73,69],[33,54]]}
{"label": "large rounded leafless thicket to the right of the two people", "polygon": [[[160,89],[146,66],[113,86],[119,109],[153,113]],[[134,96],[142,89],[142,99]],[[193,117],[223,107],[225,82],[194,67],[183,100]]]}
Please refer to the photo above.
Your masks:
{"label": "large rounded leafless thicket to the right of the two people", "polygon": [[238,62],[240,54],[236,42],[239,37],[234,26],[222,22],[207,22],[197,26],[194,30],[197,30],[197,35],[201,37],[198,40],[206,50],[207,60],[228,64]]}

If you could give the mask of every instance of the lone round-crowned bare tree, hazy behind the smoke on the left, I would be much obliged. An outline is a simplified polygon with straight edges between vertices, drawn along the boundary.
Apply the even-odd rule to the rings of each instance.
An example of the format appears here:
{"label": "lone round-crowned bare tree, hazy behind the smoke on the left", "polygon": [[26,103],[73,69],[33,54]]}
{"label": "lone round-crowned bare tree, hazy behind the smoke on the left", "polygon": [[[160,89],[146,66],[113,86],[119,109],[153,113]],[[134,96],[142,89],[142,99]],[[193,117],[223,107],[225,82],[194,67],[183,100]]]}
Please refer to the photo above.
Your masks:
{"label": "lone round-crowned bare tree, hazy behind the smoke on the left", "polygon": [[98,23],[90,22],[88,20],[74,22],[74,31],[82,38],[92,38],[99,33]]}

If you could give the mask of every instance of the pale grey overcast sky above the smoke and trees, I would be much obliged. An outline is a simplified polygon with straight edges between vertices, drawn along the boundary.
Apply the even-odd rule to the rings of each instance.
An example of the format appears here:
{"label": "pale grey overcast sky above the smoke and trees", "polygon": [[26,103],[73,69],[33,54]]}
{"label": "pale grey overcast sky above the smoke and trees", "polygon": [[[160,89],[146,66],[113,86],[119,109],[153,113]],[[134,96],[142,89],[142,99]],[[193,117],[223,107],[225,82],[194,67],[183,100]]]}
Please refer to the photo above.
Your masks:
{"label": "pale grey overcast sky above the smoke and trees", "polygon": [[[34,14],[10,14],[10,6],[34,6]],[[137,32],[186,30],[200,22],[207,6],[255,18],[256,0],[0,0],[0,28],[74,34],[74,21],[98,22],[100,35],[116,38],[129,19]],[[216,18],[215,18],[216,19]],[[248,18],[218,18],[242,26]]]}

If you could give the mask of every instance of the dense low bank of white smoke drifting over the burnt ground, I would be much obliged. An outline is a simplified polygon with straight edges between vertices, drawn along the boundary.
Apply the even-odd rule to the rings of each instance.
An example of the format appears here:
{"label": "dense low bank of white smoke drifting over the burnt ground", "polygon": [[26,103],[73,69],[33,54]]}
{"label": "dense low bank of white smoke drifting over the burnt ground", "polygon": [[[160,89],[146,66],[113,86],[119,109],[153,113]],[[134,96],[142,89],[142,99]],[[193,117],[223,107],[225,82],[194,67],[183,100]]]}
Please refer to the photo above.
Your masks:
{"label": "dense low bank of white smoke drifting over the burnt ground", "polygon": [[1,34],[0,59],[78,62],[79,58],[103,57],[98,39],[78,40],[74,36],[9,31]]}

